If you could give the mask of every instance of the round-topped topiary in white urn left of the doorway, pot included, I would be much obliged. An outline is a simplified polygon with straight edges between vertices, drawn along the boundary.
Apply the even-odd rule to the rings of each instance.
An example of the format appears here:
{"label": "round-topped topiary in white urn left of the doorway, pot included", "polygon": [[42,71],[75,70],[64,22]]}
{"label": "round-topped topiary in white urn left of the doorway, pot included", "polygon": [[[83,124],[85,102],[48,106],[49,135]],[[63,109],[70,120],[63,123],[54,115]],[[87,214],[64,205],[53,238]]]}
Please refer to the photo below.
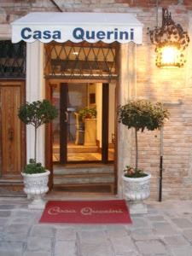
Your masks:
{"label": "round-topped topiary in white urn left of the doorway, pot included", "polygon": [[31,209],[43,209],[45,202],[42,198],[48,190],[49,171],[37,161],[37,131],[38,127],[48,124],[58,115],[55,106],[47,100],[28,103],[20,106],[18,117],[26,125],[34,126],[34,159],[29,160],[21,172],[24,178],[24,191],[26,195],[33,196],[33,201],[28,205]]}

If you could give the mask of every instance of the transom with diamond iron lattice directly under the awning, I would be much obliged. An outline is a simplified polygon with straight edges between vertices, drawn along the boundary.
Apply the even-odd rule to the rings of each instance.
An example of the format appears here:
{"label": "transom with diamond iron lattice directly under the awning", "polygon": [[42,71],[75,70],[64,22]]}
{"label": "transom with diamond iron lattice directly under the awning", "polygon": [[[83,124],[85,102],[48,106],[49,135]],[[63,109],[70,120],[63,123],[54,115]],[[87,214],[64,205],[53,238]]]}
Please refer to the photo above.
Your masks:
{"label": "transom with diamond iron lattice directly under the awning", "polygon": [[51,43],[45,45],[45,77],[116,79],[117,43]]}

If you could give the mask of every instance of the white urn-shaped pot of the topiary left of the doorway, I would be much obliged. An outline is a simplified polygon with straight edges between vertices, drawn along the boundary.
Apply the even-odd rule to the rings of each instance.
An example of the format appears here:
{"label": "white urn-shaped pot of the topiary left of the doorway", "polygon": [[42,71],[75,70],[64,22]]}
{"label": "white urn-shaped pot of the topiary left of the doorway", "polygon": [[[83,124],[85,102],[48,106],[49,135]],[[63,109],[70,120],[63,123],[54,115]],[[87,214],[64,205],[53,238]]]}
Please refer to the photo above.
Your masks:
{"label": "white urn-shaped pot of the topiary left of the doorway", "polygon": [[21,172],[24,182],[24,192],[27,197],[33,197],[33,201],[28,205],[30,209],[44,209],[45,201],[42,196],[48,192],[48,180],[50,172],[26,174]]}

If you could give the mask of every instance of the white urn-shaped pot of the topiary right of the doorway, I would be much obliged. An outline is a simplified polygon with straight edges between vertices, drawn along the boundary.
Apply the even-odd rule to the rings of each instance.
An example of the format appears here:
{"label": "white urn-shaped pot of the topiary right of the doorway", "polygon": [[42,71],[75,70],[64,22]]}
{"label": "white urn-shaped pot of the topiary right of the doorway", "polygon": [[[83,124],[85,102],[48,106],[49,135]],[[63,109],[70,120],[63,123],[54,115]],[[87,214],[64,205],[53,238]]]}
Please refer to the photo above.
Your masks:
{"label": "white urn-shaped pot of the topiary right of the doorway", "polygon": [[146,177],[125,177],[124,193],[125,199],[129,201],[131,213],[147,213],[147,207],[143,204],[143,200],[150,195],[150,178],[148,173]]}

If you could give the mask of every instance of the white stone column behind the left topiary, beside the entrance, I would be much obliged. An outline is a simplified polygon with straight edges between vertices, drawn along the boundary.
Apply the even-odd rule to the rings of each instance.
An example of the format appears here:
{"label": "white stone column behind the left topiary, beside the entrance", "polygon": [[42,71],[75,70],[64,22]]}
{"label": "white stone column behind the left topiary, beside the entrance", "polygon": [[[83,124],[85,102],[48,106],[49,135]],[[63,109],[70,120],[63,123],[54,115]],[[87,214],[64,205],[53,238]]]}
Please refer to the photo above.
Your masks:
{"label": "white stone column behind the left topiary, beside the entrance", "polygon": [[[44,44],[26,44],[26,102],[44,99]],[[34,158],[34,127],[26,125],[26,160]],[[44,165],[44,125],[38,128],[37,160]]]}

